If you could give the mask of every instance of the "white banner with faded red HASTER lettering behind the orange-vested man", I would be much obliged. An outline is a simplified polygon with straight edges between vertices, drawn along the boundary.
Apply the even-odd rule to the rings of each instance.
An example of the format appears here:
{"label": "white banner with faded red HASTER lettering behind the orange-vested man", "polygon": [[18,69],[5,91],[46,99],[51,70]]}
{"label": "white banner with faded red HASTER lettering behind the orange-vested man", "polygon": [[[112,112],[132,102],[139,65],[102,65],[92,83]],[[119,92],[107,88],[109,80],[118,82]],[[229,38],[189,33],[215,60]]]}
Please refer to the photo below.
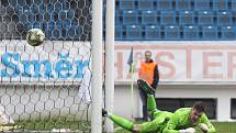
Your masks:
{"label": "white banner with faded red HASTER lettering behind the orange-vested man", "polygon": [[[135,42],[115,45],[115,79],[131,80],[127,59],[134,48],[136,70],[145,51],[153,53],[164,82],[236,81],[236,42]],[[137,75],[137,74],[136,74]],[[137,78],[137,77],[136,77]]]}

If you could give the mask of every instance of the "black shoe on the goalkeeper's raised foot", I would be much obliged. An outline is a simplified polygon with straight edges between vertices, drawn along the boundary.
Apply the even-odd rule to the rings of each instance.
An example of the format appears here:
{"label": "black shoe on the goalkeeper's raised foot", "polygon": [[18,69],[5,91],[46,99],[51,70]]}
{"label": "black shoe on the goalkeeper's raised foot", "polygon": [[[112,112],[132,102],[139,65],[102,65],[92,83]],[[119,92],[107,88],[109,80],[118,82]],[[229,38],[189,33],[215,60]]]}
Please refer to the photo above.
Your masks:
{"label": "black shoe on the goalkeeper's raised foot", "polygon": [[148,95],[155,93],[155,89],[147,81],[145,81],[143,79],[137,80],[137,86],[139,89],[144,90]]}

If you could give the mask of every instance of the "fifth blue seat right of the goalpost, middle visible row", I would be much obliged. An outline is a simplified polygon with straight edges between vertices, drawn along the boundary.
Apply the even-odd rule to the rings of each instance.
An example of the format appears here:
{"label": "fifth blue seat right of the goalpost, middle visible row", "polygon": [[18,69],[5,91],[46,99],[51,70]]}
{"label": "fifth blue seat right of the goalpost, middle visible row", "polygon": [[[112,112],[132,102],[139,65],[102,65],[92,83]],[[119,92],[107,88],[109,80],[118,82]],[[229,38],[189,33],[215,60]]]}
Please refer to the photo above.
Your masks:
{"label": "fifth blue seat right of the goalpost, middle visible row", "polygon": [[198,22],[200,25],[212,25],[214,23],[214,13],[211,11],[199,11]]}

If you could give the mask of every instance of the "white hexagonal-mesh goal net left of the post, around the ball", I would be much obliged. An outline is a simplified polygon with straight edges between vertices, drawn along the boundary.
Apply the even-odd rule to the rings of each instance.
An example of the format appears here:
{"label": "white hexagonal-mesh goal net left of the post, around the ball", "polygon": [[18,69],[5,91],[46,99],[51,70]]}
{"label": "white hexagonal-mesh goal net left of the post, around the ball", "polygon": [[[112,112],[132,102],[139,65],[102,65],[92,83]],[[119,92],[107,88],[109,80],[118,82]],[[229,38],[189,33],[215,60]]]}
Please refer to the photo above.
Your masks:
{"label": "white hexagonal-mesh goal net left of the post, around the ball", "polygon": [[[0,18],[3,132],[89,131],[91,0],[1,0]],[[33,47],[35,27],[46,41]]]}

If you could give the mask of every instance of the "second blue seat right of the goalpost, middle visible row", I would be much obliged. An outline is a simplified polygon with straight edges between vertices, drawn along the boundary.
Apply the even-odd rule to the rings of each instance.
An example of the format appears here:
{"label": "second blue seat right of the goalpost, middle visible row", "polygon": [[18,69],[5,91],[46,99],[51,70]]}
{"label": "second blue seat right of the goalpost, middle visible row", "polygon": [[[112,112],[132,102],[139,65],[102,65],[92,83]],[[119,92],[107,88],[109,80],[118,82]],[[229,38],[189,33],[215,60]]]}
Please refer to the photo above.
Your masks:
{"label": "second blue seat right of the goalpost, middle visible row", "polygon": [[157,24],[157,12],[155,10],[146,10],[141,13],[142,24]]}

